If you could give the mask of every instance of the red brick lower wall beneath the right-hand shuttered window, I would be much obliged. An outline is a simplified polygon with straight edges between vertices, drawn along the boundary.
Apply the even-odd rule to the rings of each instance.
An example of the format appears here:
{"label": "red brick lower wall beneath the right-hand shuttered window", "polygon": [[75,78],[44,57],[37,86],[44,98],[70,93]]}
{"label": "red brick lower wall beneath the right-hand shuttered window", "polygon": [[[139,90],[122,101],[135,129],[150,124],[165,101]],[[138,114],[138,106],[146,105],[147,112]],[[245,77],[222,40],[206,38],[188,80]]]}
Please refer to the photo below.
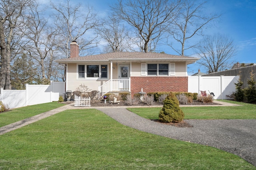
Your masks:
{"label": "red brick lower wall beneath the right-hand shuttered window", "polygon": [[131,77],[132,96],[144,92],[188,92],[188,77],[186,76],[134,76]]}

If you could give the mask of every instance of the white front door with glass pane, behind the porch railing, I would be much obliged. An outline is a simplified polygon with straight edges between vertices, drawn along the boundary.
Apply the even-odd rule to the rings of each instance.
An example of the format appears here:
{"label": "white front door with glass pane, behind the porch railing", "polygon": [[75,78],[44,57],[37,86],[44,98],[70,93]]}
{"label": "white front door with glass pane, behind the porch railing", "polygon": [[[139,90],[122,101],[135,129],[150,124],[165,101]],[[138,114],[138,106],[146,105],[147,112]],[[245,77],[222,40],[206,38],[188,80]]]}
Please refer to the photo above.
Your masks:
{"label": "white front door with glass pane, behind the porch railing", "polygon": [[130,65],[119,65],[119,90],[129,90]]}

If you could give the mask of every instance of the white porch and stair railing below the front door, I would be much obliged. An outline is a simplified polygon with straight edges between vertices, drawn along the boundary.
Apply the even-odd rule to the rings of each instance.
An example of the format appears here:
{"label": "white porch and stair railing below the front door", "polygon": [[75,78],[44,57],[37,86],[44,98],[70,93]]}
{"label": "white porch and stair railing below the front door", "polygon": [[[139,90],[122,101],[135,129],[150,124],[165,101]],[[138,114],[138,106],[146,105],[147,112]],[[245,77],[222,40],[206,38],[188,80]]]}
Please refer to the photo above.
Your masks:
{"label": "white porch and stair railing below the front door", "polygon": [[108,80],[107,82],[102,84],[102,86],[99,86],[98,91],[100,97],[110,91],[130,91],[130,78]]}

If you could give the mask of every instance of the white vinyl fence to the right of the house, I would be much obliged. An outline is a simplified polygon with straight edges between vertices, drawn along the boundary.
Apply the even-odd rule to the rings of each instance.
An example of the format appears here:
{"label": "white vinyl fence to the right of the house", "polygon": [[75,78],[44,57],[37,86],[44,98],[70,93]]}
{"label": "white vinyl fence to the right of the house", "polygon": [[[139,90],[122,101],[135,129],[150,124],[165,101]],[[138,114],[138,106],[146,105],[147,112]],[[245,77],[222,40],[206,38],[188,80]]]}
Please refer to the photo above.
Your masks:
{"label": "white vinyl fence to the right of the house", "polygon": [[189,76],[188,92],[200,94],[200,91],[206,91],[207,94],[214,93],[214,99],[230,99],[238,79],[239,76]]}

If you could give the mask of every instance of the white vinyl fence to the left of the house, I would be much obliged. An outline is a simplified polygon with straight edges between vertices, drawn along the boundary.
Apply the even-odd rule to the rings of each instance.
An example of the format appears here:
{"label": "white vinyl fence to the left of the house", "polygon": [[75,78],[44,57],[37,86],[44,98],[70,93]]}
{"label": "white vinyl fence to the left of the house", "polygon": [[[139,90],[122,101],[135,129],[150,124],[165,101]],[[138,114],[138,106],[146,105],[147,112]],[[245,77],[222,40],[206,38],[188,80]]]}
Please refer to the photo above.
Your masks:
{"label": "white vinyl fence to the left of the house", "polygon": [[51,82],[50,85],[26,84],[26,90],[3,90],[0,88],[0,101],[10,109],[35,104],[58,101],[65,94],[65,82]]}

